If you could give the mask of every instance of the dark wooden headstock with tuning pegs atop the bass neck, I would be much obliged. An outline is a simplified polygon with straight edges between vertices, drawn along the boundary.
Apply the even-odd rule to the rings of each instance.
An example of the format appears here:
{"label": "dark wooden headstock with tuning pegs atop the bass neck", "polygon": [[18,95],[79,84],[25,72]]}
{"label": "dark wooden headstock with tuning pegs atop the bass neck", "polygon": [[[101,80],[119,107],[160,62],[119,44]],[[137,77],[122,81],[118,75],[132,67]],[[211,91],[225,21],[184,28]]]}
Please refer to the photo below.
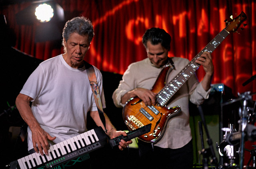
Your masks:
{"label": "dark wooden headstock with tuning pegs atop the bass neck", "polygon": [[[228,32],[237,32],[237,29],[241,26],[241,24],[247,19],[247,16],[244,12],[241,12],[239,16],[237,16],[234,19],[231,20],[225,20],[226,22],[226,31]],[[245,27],[246,24],[243,24],[243,27]],[[243,28],[241,28],[243,29]]]}

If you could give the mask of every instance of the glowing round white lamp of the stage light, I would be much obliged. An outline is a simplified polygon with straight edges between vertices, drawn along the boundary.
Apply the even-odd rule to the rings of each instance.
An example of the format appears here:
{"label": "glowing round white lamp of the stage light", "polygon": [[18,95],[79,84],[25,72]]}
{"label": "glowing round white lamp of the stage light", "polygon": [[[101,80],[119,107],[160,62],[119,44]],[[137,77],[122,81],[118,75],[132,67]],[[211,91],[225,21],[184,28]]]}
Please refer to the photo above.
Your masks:
{"label": "glowing round white lamp of the stage light", "polygon": [[48,4],[40,4],[36,7],[35,15],[40,22],[49,22],[54,15],[52,6]]}

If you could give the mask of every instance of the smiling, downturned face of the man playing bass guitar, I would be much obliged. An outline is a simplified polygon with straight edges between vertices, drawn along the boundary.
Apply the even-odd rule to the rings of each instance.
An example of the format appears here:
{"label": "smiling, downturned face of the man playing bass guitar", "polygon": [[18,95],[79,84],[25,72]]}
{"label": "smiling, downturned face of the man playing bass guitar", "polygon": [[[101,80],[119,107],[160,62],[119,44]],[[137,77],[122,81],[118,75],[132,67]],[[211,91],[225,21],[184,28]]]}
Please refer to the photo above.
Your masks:
{"label": "smiling, downturned face of the man playing bass guitar", "polygon": [[162,47],[161,43],[152,45],[150,41],[147,41],[148,58],[152,64],[156,67],[161,67],[167,63],[168,50]]}

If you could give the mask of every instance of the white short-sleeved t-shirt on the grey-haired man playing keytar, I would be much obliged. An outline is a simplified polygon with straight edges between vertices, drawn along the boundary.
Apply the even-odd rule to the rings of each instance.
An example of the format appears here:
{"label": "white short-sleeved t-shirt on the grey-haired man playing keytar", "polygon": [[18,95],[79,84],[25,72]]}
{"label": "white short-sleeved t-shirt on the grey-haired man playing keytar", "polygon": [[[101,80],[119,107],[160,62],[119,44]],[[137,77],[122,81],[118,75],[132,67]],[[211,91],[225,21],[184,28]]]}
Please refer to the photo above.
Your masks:
{"label": "white short-sleeved t-shirt on the grey-haired man playing keytar", "polygon": [[[102,75],[96,67],[94,70],[102,107],[105,108]],[[33,114],[42,129],[50,136],[56,136],[54,143],[86,132],[87,112],[97,110],[85,67],[70,67],[62,55],[40,63],[20,93],[33,98]],[[32,148],[32,134],[28,127],[28,150]]]}

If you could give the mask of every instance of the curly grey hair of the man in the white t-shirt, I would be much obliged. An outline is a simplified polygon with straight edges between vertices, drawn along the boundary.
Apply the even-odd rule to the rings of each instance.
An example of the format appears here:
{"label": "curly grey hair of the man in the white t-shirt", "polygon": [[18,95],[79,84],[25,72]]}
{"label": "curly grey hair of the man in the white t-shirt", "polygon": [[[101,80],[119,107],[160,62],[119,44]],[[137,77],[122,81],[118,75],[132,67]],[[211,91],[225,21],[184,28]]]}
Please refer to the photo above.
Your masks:
{"label": "curly grey hair of the man in the white t-shirt", "polygon": [[64,39],[67,41],[71,33],[78,33],[79,35],[88,35],[88,41],[91,42],[94,37],[94,30],[92,22],[87,18],[81,16],[68,20],[63,28],[62,32],[62,45],[64,47],[64,52],[66,52],[66,47],[64,45]]}

